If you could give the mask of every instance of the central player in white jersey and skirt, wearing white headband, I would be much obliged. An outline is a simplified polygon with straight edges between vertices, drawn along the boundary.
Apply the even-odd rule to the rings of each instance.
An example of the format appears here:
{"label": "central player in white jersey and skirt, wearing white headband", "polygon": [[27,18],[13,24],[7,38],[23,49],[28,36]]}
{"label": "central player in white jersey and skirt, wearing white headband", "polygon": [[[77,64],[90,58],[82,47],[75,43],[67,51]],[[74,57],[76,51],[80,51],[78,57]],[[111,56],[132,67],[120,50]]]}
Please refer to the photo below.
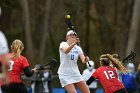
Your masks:
{"label": "central player in white jersey and skirt, wearing white headband", "polygon": [[89,57],[84,56],[81,47],[77,45],[79,42],[77,34],[73,30],[69,30],[66,34],[66,42],[61,42],[59,46],[60,66],[58,74],[62,87],[68,93],[77,93],[76,88],[82,93],[90,93],[77,66],[78,57],[83,63],[89,61]]}

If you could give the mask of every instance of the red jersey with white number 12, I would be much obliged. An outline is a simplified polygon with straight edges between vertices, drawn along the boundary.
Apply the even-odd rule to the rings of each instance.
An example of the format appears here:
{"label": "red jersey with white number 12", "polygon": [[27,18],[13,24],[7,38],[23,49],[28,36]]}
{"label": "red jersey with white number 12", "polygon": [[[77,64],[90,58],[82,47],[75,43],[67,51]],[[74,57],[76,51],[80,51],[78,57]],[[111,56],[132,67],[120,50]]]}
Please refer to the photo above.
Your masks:
{"label": "red jersey with white number 12", "polygon": [[113,93],[124,88],[124,85],[118,80],[116,70],[111,66],[99,67],[92,76],[100,81],[105,93]]}

